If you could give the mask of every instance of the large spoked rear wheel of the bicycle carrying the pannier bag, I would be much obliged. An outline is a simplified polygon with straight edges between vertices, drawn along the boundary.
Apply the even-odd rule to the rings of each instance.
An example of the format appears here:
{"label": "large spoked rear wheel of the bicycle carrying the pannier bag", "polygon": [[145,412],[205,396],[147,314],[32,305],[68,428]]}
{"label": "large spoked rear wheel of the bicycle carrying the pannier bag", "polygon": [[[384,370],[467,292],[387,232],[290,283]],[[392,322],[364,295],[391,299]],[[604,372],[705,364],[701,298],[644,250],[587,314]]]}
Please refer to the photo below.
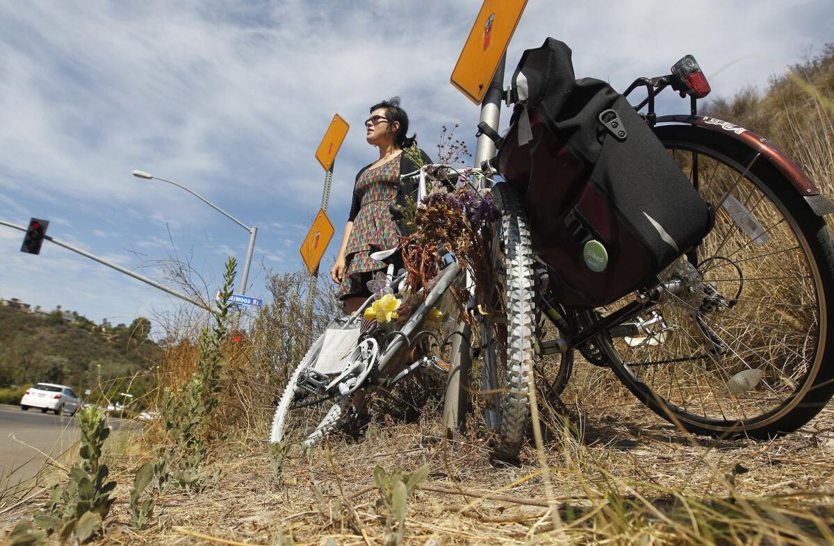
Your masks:
{"label": "large spoked rear wheel of the bicycle carrying the pannier bag", "polygon": [[[716,206],[716,227],[697,250],[702,291],[691,292],[694,300],[660,305],[668,337],[661,337],[661,328],[642,339],[605,333],[598,338],[600,348],[631,393],[691,433],[756,439],[791,433],[834,393],[831,232],[771,163],[756,159],[755,149],[691,126],[661,126],[656,134],[685,173],[690,163],[690,179],[694,159],[701,173],[709,173],[699,187],[707,201],[716,206],[716,196],[731,195],[742,203],[735,208],[741,218],[731,214],[732,204]],[[695,312],[702,296],[707,302],[706,283],[714,283],[719,293],[738,285],[736,303],[726,300],[709,314],[702,304]],[[686,323],[686,313],[697,328]],[[680,323],[669,326],[674,318]],[[652,336],[659,342],[654,346]],[[703,365],[695,363],[696,357]]]}

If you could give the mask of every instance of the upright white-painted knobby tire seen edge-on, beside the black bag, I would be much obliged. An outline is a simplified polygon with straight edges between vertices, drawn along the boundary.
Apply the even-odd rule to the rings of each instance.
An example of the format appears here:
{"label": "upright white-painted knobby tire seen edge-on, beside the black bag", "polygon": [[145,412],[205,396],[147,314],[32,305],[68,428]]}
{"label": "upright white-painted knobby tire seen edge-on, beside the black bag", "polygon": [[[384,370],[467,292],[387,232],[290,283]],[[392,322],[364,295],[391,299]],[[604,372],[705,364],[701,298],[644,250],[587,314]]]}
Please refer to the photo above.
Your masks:
{"label": "upright white-painted knobby tire seen edge-on, beside the black bag", "polygon": [[[533,343],[535,335],[535,278],[534,254],[530,245],[530,230],[524,208],[515,190],[507,183],[492,188],[495,206],[501,218],[496,225],[493,241],[493,268],[500,282],[495,283],[500,303],[487,303],[488,313],[501,311],[506,315],[504,332],[491,330],[499,343],[486,343],[485,350],[500,353],[494,363],[505,363],[503,373],[497,374],[500,393],[498,458],[517,458],[524,443],[530,421],[530,385],[533,378]],[[495,252],[500,248],[500,252]],[[500,293],[503,292],[503,293]],[[493,353],[493,357],[495,357]],[[504,384],[500,384],[503,379]]]}

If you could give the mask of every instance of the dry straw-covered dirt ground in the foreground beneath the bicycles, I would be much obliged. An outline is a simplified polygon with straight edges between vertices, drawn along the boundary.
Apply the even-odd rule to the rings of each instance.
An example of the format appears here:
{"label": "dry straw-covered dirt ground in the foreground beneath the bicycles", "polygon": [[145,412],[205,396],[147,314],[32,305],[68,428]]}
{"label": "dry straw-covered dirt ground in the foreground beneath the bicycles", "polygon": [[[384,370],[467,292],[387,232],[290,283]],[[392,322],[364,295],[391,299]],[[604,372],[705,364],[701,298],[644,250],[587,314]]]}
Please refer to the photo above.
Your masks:
{"label": "dry straw-covered dirt ground in the foreground beneath the bicycles", "polygon": [[[569,387],[565,398],[573,432],[547,434],[547,472],[532,446],[519,465],[491,461],[477,427],[447,441],[439,411],[429,411],[419,423],[374,422],[359,439],[295,453],[279,480],[264,420],[210,453],[203,490],[162,493],[141,531],[129,524],[126,484],[147,449],[127,449],[113,455],[117,503],[98,543],[389,543],[396,523],[377,507],[374,467],[424,464],[406,544],[834,543],[834,408],[770,442],[716,441],[678,432],[621,388]],[[0,524],[45,495],[0,513]]]}

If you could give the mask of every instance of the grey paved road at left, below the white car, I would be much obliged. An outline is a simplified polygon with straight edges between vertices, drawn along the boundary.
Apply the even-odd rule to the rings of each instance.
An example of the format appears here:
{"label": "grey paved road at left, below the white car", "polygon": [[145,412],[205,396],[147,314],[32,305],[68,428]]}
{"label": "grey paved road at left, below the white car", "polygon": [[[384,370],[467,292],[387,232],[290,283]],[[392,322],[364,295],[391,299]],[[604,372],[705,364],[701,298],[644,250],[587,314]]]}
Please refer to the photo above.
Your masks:
{"label": "grey paved road at left, below the white car", "polygon": [[[118,428],[120,421],[111,418],[110,427]],[[21,442],[28,443],[32,448]],[[51,412],[41,413],[35,408],[24,412],[19,406],[0,404],[0,489],[38,472],[46,458],[33,448],[50,457],[58,457],[76,442],[78,427],[74,418]],[[13,469],[10,480],[4,479]]]}

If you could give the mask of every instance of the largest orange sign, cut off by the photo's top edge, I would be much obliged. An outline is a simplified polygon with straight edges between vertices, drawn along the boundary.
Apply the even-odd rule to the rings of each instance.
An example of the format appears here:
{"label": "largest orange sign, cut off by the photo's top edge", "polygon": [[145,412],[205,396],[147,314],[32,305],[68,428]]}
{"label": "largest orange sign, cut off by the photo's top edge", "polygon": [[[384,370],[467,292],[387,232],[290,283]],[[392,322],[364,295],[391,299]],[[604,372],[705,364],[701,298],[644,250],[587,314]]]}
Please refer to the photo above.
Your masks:
{"label": "largest orange sign, cut off by the photo's top edge", "polygon": [[484,100],[527,0],[484,0],[450,82],[475,104]]}

